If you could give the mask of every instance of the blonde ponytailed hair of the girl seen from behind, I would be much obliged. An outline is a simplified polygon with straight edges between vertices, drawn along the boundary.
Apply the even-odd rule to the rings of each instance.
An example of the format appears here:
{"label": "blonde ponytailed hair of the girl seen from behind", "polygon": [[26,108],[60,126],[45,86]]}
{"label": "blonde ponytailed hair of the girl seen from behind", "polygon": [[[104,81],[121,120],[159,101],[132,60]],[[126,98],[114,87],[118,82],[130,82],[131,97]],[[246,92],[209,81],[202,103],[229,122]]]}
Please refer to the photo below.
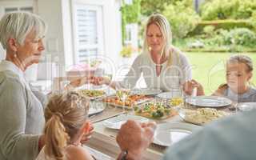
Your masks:
{"label": "blonde ponytailed hair of the girl seen from behind", "polygon": [[55,94],[45,109],[45,153],[50,158],[63,160],[65,147],[86,122],[88,101],[75,92]]}

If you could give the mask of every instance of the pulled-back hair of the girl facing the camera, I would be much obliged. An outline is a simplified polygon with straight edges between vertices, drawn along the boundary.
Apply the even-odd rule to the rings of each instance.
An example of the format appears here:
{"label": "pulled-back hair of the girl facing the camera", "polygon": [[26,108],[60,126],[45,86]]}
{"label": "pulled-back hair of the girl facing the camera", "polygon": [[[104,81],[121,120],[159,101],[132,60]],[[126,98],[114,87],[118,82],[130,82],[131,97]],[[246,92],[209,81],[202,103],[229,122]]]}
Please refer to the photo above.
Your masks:
{"label": "pulled-back hair of the girl facing the camera", "polygon": [[230,56],[230,58],[227,60],[227,64],[229,63],[244,63],[248,68],[248,72],[254,70],[253,61],[251,60],[250,57],[244,54],[234,54]]}

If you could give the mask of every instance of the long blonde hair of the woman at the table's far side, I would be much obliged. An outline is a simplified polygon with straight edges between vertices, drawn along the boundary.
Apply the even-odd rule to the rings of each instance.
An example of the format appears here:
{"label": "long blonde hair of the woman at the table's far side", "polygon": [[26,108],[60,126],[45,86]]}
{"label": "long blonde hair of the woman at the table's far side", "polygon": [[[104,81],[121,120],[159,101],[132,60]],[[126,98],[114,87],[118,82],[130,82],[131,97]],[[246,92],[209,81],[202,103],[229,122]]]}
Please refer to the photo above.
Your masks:
{"label": "long blonde hair of the woman at the table's far side", "polygon": [[144,33],[145,40],[144,40],[143,50],[145,52],[149,52],[149,46],[148,46],[147,41],[146,41],[146,33],[147,33],[147,30],[148,30],[148,27],[151,24],[157,25],[159,27],[159,29],[161,30],[161,33],[162,33],[164,46],[162,48],[161,55],[168,53],[169,50],[170,50],[170,47],[171,47],[172,33],[171,33],[171,30],[170,30],[170,23],[168,22],[166,17],[163,16],[162,14],[152,14],[152,15],[150,15],[148,21],[146,22],[146,30],[145,30],[145,33]]}

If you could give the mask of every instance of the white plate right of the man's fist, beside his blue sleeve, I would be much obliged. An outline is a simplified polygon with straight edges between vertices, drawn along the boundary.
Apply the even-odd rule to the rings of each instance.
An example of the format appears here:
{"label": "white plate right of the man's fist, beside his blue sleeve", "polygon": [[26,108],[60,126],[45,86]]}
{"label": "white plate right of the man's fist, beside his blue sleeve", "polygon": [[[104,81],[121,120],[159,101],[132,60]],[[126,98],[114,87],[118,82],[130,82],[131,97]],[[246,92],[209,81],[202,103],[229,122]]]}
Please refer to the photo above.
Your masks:
{"label": "white plate right of the man's fist, beside his blue sleeve", "polygon": [[154,133],[153,142],[160,146],[170,146],[200,128],[200,126],[182,122],[158,124],[157,130]]}

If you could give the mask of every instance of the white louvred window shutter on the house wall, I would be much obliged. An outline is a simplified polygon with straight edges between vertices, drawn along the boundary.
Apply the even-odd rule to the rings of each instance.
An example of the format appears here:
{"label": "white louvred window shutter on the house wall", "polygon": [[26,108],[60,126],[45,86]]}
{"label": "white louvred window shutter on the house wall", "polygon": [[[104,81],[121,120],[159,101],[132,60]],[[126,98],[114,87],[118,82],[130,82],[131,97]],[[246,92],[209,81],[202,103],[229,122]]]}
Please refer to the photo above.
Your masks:
{"label": "white louvred window shutter on the house wall", "polygon": [[102,6],[74,5],[75,62],[103,54]]}

